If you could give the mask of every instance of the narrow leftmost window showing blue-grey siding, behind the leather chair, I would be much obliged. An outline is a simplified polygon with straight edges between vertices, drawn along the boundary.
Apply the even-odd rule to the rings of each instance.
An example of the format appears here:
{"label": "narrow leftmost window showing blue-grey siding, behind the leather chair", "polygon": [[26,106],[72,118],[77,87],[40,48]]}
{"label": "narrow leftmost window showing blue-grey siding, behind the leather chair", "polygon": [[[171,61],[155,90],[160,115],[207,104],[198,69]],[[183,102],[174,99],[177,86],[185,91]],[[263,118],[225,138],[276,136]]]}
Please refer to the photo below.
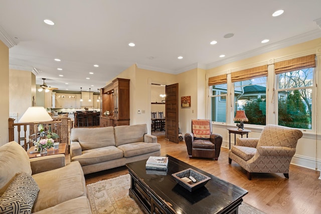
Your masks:
{"label": "narrow leftmost window showing blue-grey siding, behind the leather chair", "polygon": [[227,84],[213,85],[210,87],[211,120],[226,122],[226,94]]}

